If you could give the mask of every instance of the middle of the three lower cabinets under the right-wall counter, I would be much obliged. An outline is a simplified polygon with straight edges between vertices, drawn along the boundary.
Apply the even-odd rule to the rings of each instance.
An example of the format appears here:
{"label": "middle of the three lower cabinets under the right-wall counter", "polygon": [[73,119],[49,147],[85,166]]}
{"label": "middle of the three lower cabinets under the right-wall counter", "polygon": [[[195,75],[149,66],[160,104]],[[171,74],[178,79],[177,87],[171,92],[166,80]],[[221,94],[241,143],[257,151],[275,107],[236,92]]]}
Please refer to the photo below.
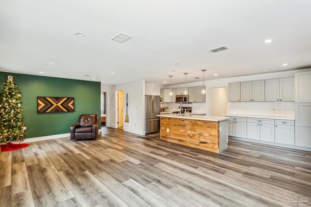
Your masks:
{"label": "middle of the three lower cabinets under the right-wall counter", "polygon": [[274,142],[274,119],[247,118],[247,139]]}

